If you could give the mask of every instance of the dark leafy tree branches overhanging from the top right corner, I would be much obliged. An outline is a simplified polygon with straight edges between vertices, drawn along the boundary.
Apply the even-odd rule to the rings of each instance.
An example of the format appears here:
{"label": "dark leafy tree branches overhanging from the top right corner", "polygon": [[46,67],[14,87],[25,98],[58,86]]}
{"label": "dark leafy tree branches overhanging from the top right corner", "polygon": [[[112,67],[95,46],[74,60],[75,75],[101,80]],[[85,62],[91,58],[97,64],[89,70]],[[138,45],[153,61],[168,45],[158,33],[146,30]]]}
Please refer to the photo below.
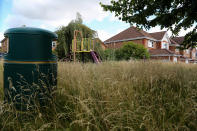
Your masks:
{"label": "dark leafy tree branches overhanging from the top right corner", "polygon": [[145,29],[159,25],[170,29],[174,35],[181,28],[195,25],[185,36],[183,47],[197,46],[197,0],[111,0],[110,5],[101,3],[101,6],[131,25]]}

